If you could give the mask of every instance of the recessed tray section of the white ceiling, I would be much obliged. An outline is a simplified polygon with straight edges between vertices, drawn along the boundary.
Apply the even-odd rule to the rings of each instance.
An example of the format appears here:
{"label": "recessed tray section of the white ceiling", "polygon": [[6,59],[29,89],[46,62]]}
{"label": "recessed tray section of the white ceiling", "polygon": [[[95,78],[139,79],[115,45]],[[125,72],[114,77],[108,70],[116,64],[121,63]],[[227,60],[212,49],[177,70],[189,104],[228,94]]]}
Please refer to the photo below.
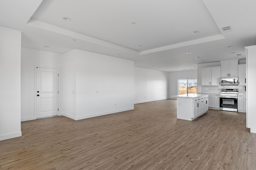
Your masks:
{"label": "recessed tray section of the white ceiling", "polygon": [[[144,1],[144,4],[140,4],[142,2],[138,4],[135,0],[125,2],[128,4],[120,4],[119,1],[110,0],[107,7],[112,7],[106,9],[102,6],[96,8],[97,4],[102,3],[100,0],[93,2],[44,0],[27,25],[135,55],[155,53],[225,38],[201,0],[193,2],[186,0],[186,3],[178,0],[164,1],[157,3],[157,5],[153,1],[142,1]],[[83,10],[81,10],[81,6]],[[200,6],[200,11],[192,9],[196,6]],[[130,11],[128,7],[130,7]],[[95,11],[92,12],[91,8]],[[162,11],[159,11],[161,8]],[[66,12],[66,9],[70,11]],[[157,9],[157,14],[152,12]],[[111,10],[114,11],[115,15],[110,12]],[[191,17],[194,18],[193,22],[186,15],[173,16],[173,14],[177,14],[177,10],[180,10],[181,14],[185,12],[191,14]],[[118,13],[121,11],[122,13]],[[88,16],[89,13],[90,18],[84,17]],[[120,15],[116,15],[116,13]],[[95,14],[95,16],[91,16],[92,14]],[[64,16],[72,16],[70,17],[72,22],[62,20]],[[165,17],[164,20],[162,19],[163,16]],[[111,20],[107,20],[107,18],[111,18]],[[152,25],[152,20],[149,20],[149,18],[155,22],[154,25]],[[98,22],[97,19],[101,22]],[[114,22],[112,23],[112,21]],[[132,21],[136,21],[136,24],[132,24]],[[206,21],[207,23],[205,23]],[[163,23],[164,25],[159,26]],[[180,25],[183,26],[179,28]],[[93,27],[100,28],[92,31]],[[116,30],[115,27],[119,29]],[[123,29],[120,29],[120,27],[123,27]],[[200,31],[200,33],[194,36],[192,31]],[[126,32],[132,33],[132,35]],[[161,37],[162,35],[165,37]],[[150,42],[148,41],[150,38],[144,36],[153,37],[154,41]],[[138,42],[138,44],[134,45],[135,42]]]}

